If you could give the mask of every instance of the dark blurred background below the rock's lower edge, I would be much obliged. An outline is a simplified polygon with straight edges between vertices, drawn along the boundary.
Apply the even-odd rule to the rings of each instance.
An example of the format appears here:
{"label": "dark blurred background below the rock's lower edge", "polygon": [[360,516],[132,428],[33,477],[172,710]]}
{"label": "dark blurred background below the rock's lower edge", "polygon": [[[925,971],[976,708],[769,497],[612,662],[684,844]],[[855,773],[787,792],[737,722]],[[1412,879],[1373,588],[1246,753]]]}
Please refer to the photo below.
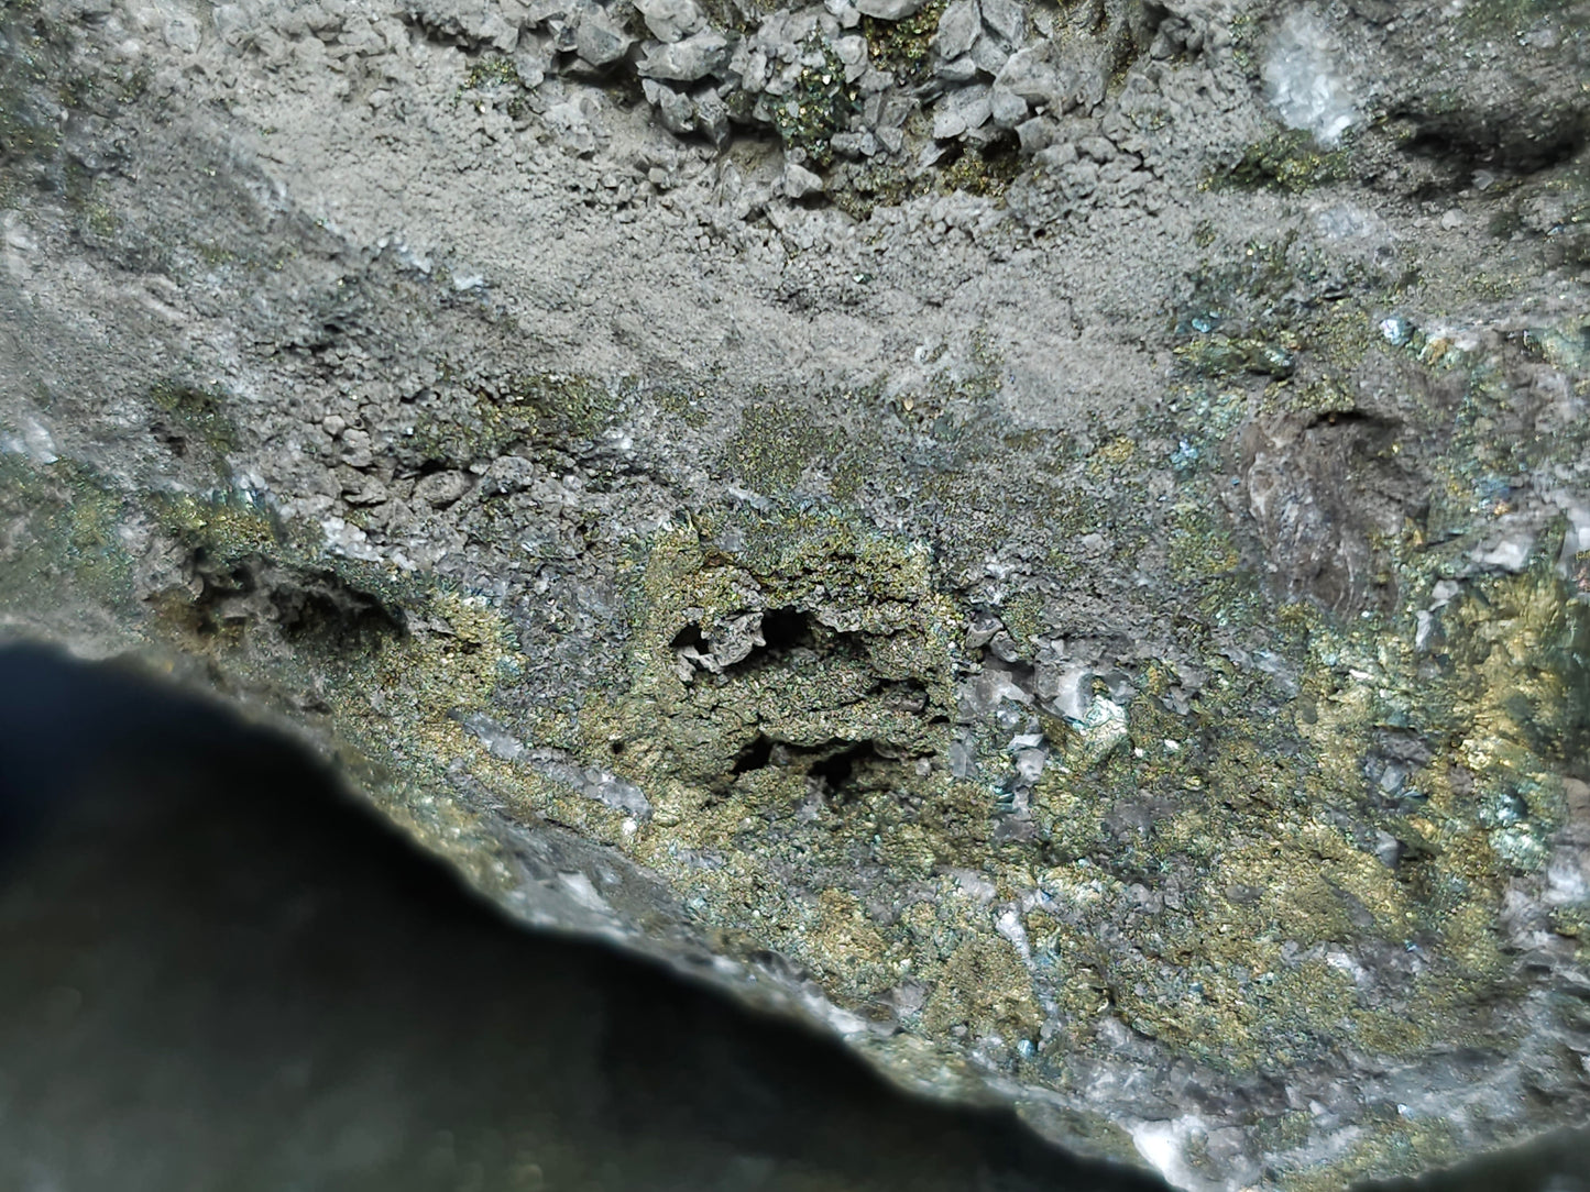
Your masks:
{"label": "dark blurred background below the rock's lower edge", "polygon": [[[122,669],[0,652],[0,1187],[1159,1187],[518,930],[297,750]],[[1584,1157],[1417,1187],[1577,1192]]]}

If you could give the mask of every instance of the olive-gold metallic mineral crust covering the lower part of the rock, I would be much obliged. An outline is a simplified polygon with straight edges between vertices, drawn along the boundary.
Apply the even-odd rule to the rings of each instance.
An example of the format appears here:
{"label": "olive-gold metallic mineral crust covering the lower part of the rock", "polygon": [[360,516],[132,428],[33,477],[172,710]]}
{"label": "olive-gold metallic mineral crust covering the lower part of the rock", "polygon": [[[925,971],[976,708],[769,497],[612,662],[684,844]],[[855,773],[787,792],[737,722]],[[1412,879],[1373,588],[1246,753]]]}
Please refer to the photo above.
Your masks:
{"label": "olive-gold metallic mineral crust covering the lower part of the rock", "polygon": [[[1089,470],[1129,491],[1134,439]],[[1434,462],[1448,483],[1472,475],[1464,456]],[[785,483],[800,470],[757,466]],[[5,469],[35,544],[6,569],[13,617],[119,609],[140,648],[312,690],[301,707],[378,801],[483,888],[506,895],[509,866],[472,812],[428,793],[460,769],[509,819],[564,825],[657,874],[716,949],[781,957],[835,1006],[900,1031],[897,1047],[975,1041],[1003,1078],[1064,1089],[1080,1060],[1108,1057],[1107,1020],[1232,1079],[1329,1071],[1345,1049],[1394,1065],[1526,1044],[1491,1009],[1518,981],[1507,892],[1590,811],[1585,561],[1565,579],[1560,521],[1526,566],[1418,617],[1407,606],[1431,599],[1442,551],[1409,523],[1377,547],[1401,607],[1347,617],[1232,582],[1239,539],[1185,499],[1167,591],[1197,620],[1245,628],[1262,668],[1204,655],[1202,688],[1177,709],[1183,639],[1175,660],[1137,660],[1124,695],[1092,680],[1116,720],[1034,707],[1048,763],[1018,815],[999,780],[1008,730],[968,726],[970,772],[948,760],[965,720],[956,680],[979,652],[924,542],[836,509],[703,513],[636,544],[615,688],[572,717],[501,717],[646,791],[636,815],[466,731],[471,712],[512,707],[533,664],[491,601],[305,548],[242,496],[126,499],[65,464]],[[129,524],[188,551],[194,580],[132,601]],[[1030,650],[1041,607],[1002,612]],[[714,658],[736,629],[738,656]],[[1386,758],[1412,758],[1399,785]],[[1123,917],[1121,900],[1153,911]],[[1576,958],[1587,909],[1550,915]],[[1366,997],[1355,957],[1374,954],[1417,963],[1385,965]],[[1288,1122],[1266,1127],[1282,1149],[1307,1138],[1305,1119]],[[1439,1122],[1385,1119],[1334,1170],[1455,1154]]]}

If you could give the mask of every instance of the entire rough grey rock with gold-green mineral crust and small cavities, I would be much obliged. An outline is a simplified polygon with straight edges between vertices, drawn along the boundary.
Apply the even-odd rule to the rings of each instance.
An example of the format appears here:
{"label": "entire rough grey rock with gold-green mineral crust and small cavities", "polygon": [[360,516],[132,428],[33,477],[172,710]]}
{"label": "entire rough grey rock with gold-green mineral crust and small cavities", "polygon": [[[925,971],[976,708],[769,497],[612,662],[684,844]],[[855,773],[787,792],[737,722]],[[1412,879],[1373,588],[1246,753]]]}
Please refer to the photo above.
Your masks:
{"label": "entire rough grey rock with gold-green mineral crust and small cavities", "polygon": [[1181,1187],[1582,1119],[1585,3],[0,11],[5,634]]}

